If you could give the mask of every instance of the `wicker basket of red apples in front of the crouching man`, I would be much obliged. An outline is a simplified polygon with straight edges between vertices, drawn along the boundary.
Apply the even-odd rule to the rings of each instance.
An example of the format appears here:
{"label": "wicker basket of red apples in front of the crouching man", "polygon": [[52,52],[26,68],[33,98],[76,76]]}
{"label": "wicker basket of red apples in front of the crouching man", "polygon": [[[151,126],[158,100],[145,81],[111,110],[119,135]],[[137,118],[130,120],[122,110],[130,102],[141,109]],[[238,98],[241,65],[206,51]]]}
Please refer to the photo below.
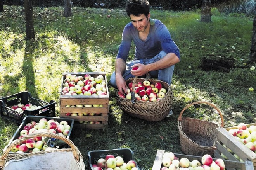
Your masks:
{"label": "wicker basket of red apples in front of the crouching man", "polygon": [[167,90],[166,95],[163,97],[163,99],[156,102],[145,102],[142,100],[136,100],[133,104],[131,99],[121,98],[116,93],[118,105],[121,110],[123,110],[123,112],[133,117],[137,117],[139,119],[144,119],[147,121],[161,121],[168,115],[171,109],[171,105],[173,104],[173,92],[171,90],[171,87],[170,85],[168,85],[168,83],[160,80],[138,78],[137,76],[135,78],[130,78],[126,80],[126,84],[133,82],[132,89],[134,90],[135,83],[143,82],[144,80],[149,80],[150,83],[154,84],[157,82],[161,82],[163,88]]}

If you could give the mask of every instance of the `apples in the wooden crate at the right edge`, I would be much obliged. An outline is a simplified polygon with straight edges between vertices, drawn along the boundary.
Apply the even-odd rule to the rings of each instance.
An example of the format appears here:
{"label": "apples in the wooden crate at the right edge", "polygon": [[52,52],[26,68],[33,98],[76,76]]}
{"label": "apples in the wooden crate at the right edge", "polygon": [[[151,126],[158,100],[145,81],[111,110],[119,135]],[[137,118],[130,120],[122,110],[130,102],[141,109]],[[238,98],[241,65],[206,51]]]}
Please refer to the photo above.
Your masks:
{"label": "apples in the wooden crate at the right edge", "polygon": [[[235,139],[242,144],[244,144],[247,148],[249,148],[251,151],[256,153],[256,126],[251,125],[249,128],[247,128],[245,123],[239,123],[237,126],[237,129],[230,129],[228,131],[231,133]],[[239,158],[230,148],[228,148],[226,145],[223,144],[223,147],[226,148],[230,153],[232,153],[237,160],[240,160],[243,162],[242,159]],[[228,159],[227,156],[225,156],[223,153],[221,153],[221,156],[225,159]]]}

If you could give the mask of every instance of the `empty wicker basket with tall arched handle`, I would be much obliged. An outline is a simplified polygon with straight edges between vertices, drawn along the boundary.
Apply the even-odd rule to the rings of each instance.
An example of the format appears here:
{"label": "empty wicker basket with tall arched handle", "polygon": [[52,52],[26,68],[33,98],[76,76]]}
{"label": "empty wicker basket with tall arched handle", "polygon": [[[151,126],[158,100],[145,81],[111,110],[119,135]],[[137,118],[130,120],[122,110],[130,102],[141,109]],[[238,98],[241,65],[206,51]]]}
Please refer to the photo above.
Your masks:
{"label": "empty wicker basket with tall arched handle", "polygon": [[194,119],[189,117],[182,117],[183,112],[190,106],[195,104],[208,104],[214,107],[220,115],[221,127],[224,126],[223,117],[220,110],[209,102],[199,101],[187,105],[178,117],[178,129],[180,133],[180,145],[182,151],[186,155],[204,156],[205,154],[213,155],[216,147],[216,128],[218,124],[213,122]]}

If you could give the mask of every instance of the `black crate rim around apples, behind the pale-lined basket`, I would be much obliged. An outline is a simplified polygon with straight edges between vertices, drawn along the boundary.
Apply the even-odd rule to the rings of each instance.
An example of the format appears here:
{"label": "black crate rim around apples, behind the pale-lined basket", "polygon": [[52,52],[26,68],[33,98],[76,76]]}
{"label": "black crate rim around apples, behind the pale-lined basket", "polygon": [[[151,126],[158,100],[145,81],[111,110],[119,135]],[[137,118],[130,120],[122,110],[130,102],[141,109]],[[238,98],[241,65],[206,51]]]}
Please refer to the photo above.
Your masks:
{"label": "black crate rim around apples, behind the pale-lined basket", "polygon": [[[19,133],[23,130],[24,126],[26,126],[27,123],[30,123],[31,121],[36,121],[39,122],[40,119],[45,118],[48,120],[50,119],[54,119],[57,122],[61,122],[61,121],[67,121],[67,123],[70,126],[69,129],[69,134],[67,135],[67,139],[71,138],[71,131],[73,129],[74,126],[74,119],[68,119],[68,118],[60,118],[60,117],[44,117],[44,116],[26,116],[23,120],[22,123],[20,124],[19,128],[16,130],[16,132],[14,133],[14,135],[12,136],[12,138],[10,139],[9,143],[7,146],[5,146],[5,148],[9,147],[12,143],[12,141],[14,141],[15,139],[18,139],[19,137]],[[5,149],[4,149],[5,150]]]}

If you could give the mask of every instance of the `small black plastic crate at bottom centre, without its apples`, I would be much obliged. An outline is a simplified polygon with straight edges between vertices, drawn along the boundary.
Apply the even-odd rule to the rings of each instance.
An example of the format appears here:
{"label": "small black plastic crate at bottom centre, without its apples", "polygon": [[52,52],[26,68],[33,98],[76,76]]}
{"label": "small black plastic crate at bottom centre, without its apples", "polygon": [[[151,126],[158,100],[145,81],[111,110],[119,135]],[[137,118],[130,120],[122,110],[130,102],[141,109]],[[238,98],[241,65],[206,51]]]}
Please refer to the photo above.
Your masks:
{"label": "small black plastic crate at bottom centre, without its apples", "polygon": [[[97,164],[97,160],[100,158],[106,158],[107,155],[113,155],[114,157],[116,156],[121,156],[124,160],[124,162],[128,162],[130,160],[133,160],[133,151],[129,148],[120,148],[120,149],[113,149],[113,150],[99,150],[99,151],[89,151],[88,152],[88,169],[92,170],[93,164]],[[136,161],[135,161],[136,162]],[[137,162],[136,162],[137,164]],[[140,170],[137,164],[137,168]]]}

